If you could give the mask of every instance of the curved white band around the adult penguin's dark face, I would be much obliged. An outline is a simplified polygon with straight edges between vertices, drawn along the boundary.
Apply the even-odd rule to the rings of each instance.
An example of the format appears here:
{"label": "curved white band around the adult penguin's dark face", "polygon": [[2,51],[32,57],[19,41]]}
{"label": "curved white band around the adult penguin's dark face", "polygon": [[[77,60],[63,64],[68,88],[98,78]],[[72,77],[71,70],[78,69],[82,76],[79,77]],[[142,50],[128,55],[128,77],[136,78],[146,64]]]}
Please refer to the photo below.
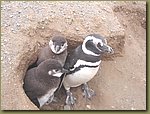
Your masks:
{"label": "curved white band around the adult penguin's dark face", "polygon": [[[102,40],[101,40],[101,39],[97,39],[97,38],[95,38],[94,36],[87,36],[87,37],[85,38],[85,40],[83,41],[83,44],[82,44],[82,50],[83,50],[83,52],[84,52],[85,54],[94,55],[94,56],[99,56],[99,54],[96,54],[96,53],[94,53],[94,52],[92,52],[92,51],[90,51],[90,50],[88,50],[88,49],[86,48],[85,44],[86,44],[86,42],[87,42],[88,40],[93,40],[93,43],[95,44],[95,47],[97,47],[97,44],[98,44],[98,43],[100,43],[100,45],[103,46],[104,43],[102,42]],[[99,50],[99,48],[98,48],[98,50]]]}

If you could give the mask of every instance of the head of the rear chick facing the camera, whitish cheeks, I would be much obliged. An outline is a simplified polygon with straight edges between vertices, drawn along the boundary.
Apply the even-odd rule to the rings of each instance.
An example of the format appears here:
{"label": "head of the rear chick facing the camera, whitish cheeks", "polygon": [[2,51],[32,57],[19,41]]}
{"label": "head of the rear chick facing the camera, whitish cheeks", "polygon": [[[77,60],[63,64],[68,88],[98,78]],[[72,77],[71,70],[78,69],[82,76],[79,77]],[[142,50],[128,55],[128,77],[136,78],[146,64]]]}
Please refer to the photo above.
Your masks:
{"label": "head of the rear chick facing the camera, whitish cheeks", "polygon": [[62,36],[55,36],[53,37],[50,42],[49,46],[53,53],[60,54],[67,49],[67,41]]}

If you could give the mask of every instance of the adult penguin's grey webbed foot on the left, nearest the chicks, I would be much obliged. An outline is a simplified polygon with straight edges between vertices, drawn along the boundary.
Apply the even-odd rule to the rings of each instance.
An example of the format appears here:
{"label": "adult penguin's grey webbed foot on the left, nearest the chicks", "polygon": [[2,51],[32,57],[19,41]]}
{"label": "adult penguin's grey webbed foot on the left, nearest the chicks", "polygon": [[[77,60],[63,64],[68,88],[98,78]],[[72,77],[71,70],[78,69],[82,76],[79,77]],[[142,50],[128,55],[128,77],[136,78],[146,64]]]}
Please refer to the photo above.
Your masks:
{"label": "adult penguin's grey webbed foot on the left, nearest the chicks", "polygon": [[75,104],[76,98],[73,97],[72,93],[68,90],[67,91],[67,98],[66,98],[66,104],[67,105],[73,105]]}

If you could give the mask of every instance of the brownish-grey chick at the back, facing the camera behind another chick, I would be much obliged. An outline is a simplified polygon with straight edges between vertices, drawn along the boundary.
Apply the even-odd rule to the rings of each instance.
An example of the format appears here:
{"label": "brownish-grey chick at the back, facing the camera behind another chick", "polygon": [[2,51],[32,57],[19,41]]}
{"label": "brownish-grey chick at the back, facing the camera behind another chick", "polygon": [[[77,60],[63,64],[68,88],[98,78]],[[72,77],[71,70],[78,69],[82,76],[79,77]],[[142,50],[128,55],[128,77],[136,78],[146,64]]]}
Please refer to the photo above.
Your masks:
{"label": "brownish-grey chick at the back, facing the camera behind another chick", "polygon": [[64,66],[67,57],[67,40],[62,36],[55,36],[49,41],[49,45],[41,49],[37,66],[46,59],[56,59]]}

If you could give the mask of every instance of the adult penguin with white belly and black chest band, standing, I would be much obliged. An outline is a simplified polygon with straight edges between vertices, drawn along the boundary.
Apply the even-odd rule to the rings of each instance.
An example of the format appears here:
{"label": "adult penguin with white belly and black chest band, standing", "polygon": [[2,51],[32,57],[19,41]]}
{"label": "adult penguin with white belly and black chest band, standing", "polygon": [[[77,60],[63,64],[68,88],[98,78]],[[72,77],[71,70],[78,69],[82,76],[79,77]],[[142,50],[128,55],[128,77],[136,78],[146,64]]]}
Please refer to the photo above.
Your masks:
{"label": "adult penguin with white belly and black chest band, standing", "polygon": [[71,87],[83,84],[84,95],[91,98],[94,91],[88,88],[90,81],[99,70],[101,55],[111,53],[113,49],[107,45],[107,41],[98,34],[88,35],[82,45],[68,54],[64,68],[70,72],[64,78],[63,85],[67,91],[66,104],[74,104],[75,98],[70,92]]}

